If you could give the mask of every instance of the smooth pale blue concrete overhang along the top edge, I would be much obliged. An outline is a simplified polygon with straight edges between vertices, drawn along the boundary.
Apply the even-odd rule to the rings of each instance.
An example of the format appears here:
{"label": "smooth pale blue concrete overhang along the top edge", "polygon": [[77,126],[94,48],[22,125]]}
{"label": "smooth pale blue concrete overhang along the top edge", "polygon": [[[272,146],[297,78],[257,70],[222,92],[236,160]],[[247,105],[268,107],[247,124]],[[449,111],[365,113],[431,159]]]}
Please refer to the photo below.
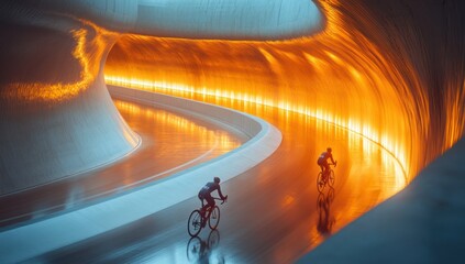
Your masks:
{"label": "smooth pale blue concrete overhang along the top edge", "polygon": [[323,26],[311,0],[4,0],[2,6],[0,18],[16,22],[62,14],[117,32],[170,37],[280,40]]}

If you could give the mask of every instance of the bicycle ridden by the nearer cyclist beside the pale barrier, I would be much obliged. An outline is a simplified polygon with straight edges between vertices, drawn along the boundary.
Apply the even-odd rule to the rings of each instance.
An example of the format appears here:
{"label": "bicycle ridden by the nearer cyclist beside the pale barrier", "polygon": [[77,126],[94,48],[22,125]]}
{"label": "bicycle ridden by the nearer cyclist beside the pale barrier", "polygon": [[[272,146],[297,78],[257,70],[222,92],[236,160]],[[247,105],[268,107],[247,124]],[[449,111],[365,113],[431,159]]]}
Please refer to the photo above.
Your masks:
{"label": "bicycle ridden by the nearer cyclist beside the pale barrier", "polygon": [[[213,197],[215,200],[222,200],[220,198]],[[228,200],[222,200],[221,205],[223,205]],[[200,209],[195,209],[190,216],[189,220],[187,222],[187,231],[189,232],[190,237],[197,237],[202,228],[204,228],[207,224],[204,221],[208,221],[208,226],[211,230],[215,230],[218,224],[220,223],[220,208],[215,205],[213,208],[208,207],[206,210],[206,217],[202,218],[202,215],[200,212]]]}

